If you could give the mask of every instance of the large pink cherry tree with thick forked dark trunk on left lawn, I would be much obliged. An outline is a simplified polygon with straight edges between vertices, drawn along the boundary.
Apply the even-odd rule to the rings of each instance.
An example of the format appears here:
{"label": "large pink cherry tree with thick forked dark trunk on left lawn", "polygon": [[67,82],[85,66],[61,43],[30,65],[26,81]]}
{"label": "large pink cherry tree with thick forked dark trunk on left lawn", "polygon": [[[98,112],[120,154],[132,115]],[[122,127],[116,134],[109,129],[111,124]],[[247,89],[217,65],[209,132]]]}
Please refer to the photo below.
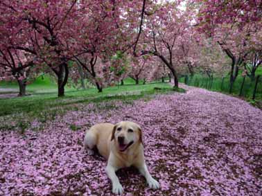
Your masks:
{"label": "large pink cherry tree with thick forked dark trunk on left lawn", "polygon": [[79,30],[76,1],[1,1],[0,5],[10,17],[16,17],[18,23],[10,24],[12,28],[29,32],[27,42],[14,48],[36,55],[49,66],[58,78],[58,96],[64,96],[72,35]]}

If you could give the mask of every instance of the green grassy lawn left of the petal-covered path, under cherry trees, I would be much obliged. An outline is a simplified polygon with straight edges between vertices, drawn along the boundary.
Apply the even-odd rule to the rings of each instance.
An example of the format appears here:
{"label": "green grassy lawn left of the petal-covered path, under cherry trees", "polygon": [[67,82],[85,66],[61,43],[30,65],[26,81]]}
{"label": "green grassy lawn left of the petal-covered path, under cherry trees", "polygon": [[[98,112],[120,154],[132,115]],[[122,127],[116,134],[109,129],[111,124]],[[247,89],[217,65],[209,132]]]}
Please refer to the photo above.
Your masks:
{"label": "green grassy lawn left of the petal-covered path, under cherry trees", "polygon": [[[23,130],[35,119],[42,123],[53,121],[56,116],[64,115],[67,111],[80,110],[82,104],[94,103],[99,107],[101,102],[110,100],[121,100],[123,103],[130,104],[139,98],[149,100],[152,95],[174,91],[168,83],[154,82],[135,85],[132,82],[132,79],[128,79],[125,85],[107,87],[103,89],[102,93],[98,93],[96,88],[77,90],[67,87],[65,96],[58,98],[55,84],[50,81],[36,80],[33,84],[28,85],[30,96],[0,98],[0,121],[5,122],[1,123],[0,130],[11,130],[14,127],[20,127]],[[15,84],[1,83],[0,88],[2,87],[12,88],[15,87]],[[183,89],[176,91],[183,91]],[[107,107],[110,109],[114,105]],[[6,127],[10,124],[9,121],[12,122],[12,125]]]}

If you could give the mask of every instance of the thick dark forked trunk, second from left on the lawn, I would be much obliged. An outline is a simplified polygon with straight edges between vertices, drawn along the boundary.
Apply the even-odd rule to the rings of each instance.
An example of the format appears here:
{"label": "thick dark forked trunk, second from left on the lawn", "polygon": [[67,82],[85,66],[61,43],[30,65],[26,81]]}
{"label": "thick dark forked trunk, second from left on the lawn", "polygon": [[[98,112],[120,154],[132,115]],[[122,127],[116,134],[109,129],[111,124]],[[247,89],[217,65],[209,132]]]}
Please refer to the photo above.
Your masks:
{"label": "thick dark forked trunk, second from left on the lawn", "polygon": [[67,84],[69,70],[66,62],[59,66],[58,71],[58,97],[64,96],[64,86]]}

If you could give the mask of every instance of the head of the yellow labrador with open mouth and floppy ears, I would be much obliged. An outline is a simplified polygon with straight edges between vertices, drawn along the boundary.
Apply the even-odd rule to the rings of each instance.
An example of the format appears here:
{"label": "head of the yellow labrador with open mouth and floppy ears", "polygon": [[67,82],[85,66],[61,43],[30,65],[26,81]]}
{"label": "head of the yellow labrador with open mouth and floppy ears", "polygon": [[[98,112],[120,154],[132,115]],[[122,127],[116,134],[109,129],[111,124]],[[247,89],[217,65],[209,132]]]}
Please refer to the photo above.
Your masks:
{"label": "head of the yellow labrador with open mouth and floppy ears", "polygon": [[141,127],[137,123],[121,121],[114,125],[111,140],[115,140],[119,150],[125,152],[134,144],[143,144]]}

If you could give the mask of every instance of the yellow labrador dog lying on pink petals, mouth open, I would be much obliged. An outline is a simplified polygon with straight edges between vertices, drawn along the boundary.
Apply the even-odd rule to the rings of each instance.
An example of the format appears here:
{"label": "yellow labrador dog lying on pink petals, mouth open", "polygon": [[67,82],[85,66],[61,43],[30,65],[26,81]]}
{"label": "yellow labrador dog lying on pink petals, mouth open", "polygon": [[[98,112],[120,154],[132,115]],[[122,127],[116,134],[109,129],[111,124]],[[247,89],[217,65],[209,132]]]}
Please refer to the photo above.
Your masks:
{"label": "yellow labrador dog lying on pink petals, mouth open", "polygon": [[112,181],[112,192],[123,193],[123,187],[116,176],[116,170],[134,166],[146,178],[150,188],[159,188],[159,183],[148,172],[143,156],[141,128],[136,123],[121,121],[116,125],[101,123],[87,130],[84,141],[89,155],[94,154],[95,146],[98,152],[107,159],[105,168]]}

